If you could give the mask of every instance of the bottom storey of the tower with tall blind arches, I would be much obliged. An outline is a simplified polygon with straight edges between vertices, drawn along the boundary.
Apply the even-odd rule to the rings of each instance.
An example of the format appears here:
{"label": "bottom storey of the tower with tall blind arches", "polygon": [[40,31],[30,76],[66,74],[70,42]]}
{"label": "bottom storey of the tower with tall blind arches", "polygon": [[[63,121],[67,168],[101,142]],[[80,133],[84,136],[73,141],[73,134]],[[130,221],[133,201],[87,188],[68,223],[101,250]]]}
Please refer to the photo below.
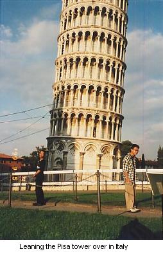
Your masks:
{"label": "bottom storey of the tower with tall blind arches", "polygon": [[47,170],[120,169],[121,143],[70,136],[49,136]]}

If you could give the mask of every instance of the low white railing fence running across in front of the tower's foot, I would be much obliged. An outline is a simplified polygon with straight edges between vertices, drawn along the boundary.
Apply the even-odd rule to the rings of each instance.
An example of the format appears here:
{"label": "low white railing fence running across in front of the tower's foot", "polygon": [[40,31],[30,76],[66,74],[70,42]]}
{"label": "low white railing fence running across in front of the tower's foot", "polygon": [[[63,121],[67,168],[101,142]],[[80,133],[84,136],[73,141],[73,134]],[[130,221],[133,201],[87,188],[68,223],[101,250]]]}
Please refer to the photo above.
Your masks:
{"label": "low white railing fence running across in front of the tower's foot", "polygon": [[[139,181],[136,185],[141,185],[142,192],[144,185],[149,186],[150,183],[146,176],[146,173],[150,172],[163,172],[161,169],[138,169],[137,176]],[[31,187],[35,187],[35,180],[33,174],[35,172],[10,172],[0,174],[0,191],[8,190],[8,205],[11,206],[12,190],[14,187],[19,187],[19,193],[21,198],[22,188],[30,190]],[[95,186],[94,190],[97,191],[98,196],[98,212],[101,212],[101,186],[105,187],[107,192],[108,185],[124,185],[123,170],[60,170],[60,171],[46,171],[44,172],[44,189],[48,186],[55,187],[67,187],[71,186],[74,192],[75,200],[78,200],[78,187],[82,185]],[[152,205],[154,207],[154,199],[152,196]]]}

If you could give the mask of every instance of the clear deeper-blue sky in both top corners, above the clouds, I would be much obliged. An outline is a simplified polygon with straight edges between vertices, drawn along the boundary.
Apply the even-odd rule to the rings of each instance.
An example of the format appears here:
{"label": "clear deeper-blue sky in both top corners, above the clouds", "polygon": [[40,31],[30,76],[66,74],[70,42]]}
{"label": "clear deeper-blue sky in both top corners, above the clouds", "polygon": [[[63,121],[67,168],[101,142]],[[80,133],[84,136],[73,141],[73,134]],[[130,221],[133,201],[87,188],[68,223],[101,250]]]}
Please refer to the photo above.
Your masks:
{"label": "clear deeper-blue sky in both top corners, above the clouds", "polygon": [[[29,23],[30,18],[41,17],[42,10],[57,5],[62,6],[61,0],[1,0],[1,23],[17,28],[20,21]],[[155,32],[162,30],[162,0],[129,0],[128,31],[135,28],[151,28]],[[58,21],[60,12],[46,15],[46,19]],[[15,27],[16,26],[16,27]]]}

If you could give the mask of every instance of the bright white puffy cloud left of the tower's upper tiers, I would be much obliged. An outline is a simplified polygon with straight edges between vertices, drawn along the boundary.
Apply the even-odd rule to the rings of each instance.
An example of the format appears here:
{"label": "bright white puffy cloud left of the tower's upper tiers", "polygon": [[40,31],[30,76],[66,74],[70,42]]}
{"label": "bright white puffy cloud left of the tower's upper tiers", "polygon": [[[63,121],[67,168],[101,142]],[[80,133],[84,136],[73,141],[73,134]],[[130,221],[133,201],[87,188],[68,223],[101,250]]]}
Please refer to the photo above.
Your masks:
{"label": "bright white puffy cloud left of the tower's upper tiers", "polygon": [[[4,27],[5,30],[6,28]],[[38,23],[28,28],[25,28],[21,23],[17,41],[2,39],[1,54],[10,59],[11,57],[31,57],[31,55],[45,53],[49,55],[55,50],[57,34],[58,24],[53,21],[38,21]],[[53,42],[55,42],[55,45]]]}

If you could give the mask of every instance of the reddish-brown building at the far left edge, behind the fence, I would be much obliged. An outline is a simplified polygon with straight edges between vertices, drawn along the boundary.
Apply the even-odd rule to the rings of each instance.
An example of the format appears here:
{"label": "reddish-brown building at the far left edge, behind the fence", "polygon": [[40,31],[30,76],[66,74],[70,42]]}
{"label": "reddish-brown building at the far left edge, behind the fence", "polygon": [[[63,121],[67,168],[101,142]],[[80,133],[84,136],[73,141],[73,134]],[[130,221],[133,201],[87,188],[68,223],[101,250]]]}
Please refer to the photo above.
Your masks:
{"label": "reddish-brown building at the far left edge, behind the fence", "polygon": [[17,170],[20,171],[24,166],[24,159],[17,158],[17,160],[13,160],[13,156],[0,153],[0,172],[8,172],[13,170],[14,167],[17,167]]}

